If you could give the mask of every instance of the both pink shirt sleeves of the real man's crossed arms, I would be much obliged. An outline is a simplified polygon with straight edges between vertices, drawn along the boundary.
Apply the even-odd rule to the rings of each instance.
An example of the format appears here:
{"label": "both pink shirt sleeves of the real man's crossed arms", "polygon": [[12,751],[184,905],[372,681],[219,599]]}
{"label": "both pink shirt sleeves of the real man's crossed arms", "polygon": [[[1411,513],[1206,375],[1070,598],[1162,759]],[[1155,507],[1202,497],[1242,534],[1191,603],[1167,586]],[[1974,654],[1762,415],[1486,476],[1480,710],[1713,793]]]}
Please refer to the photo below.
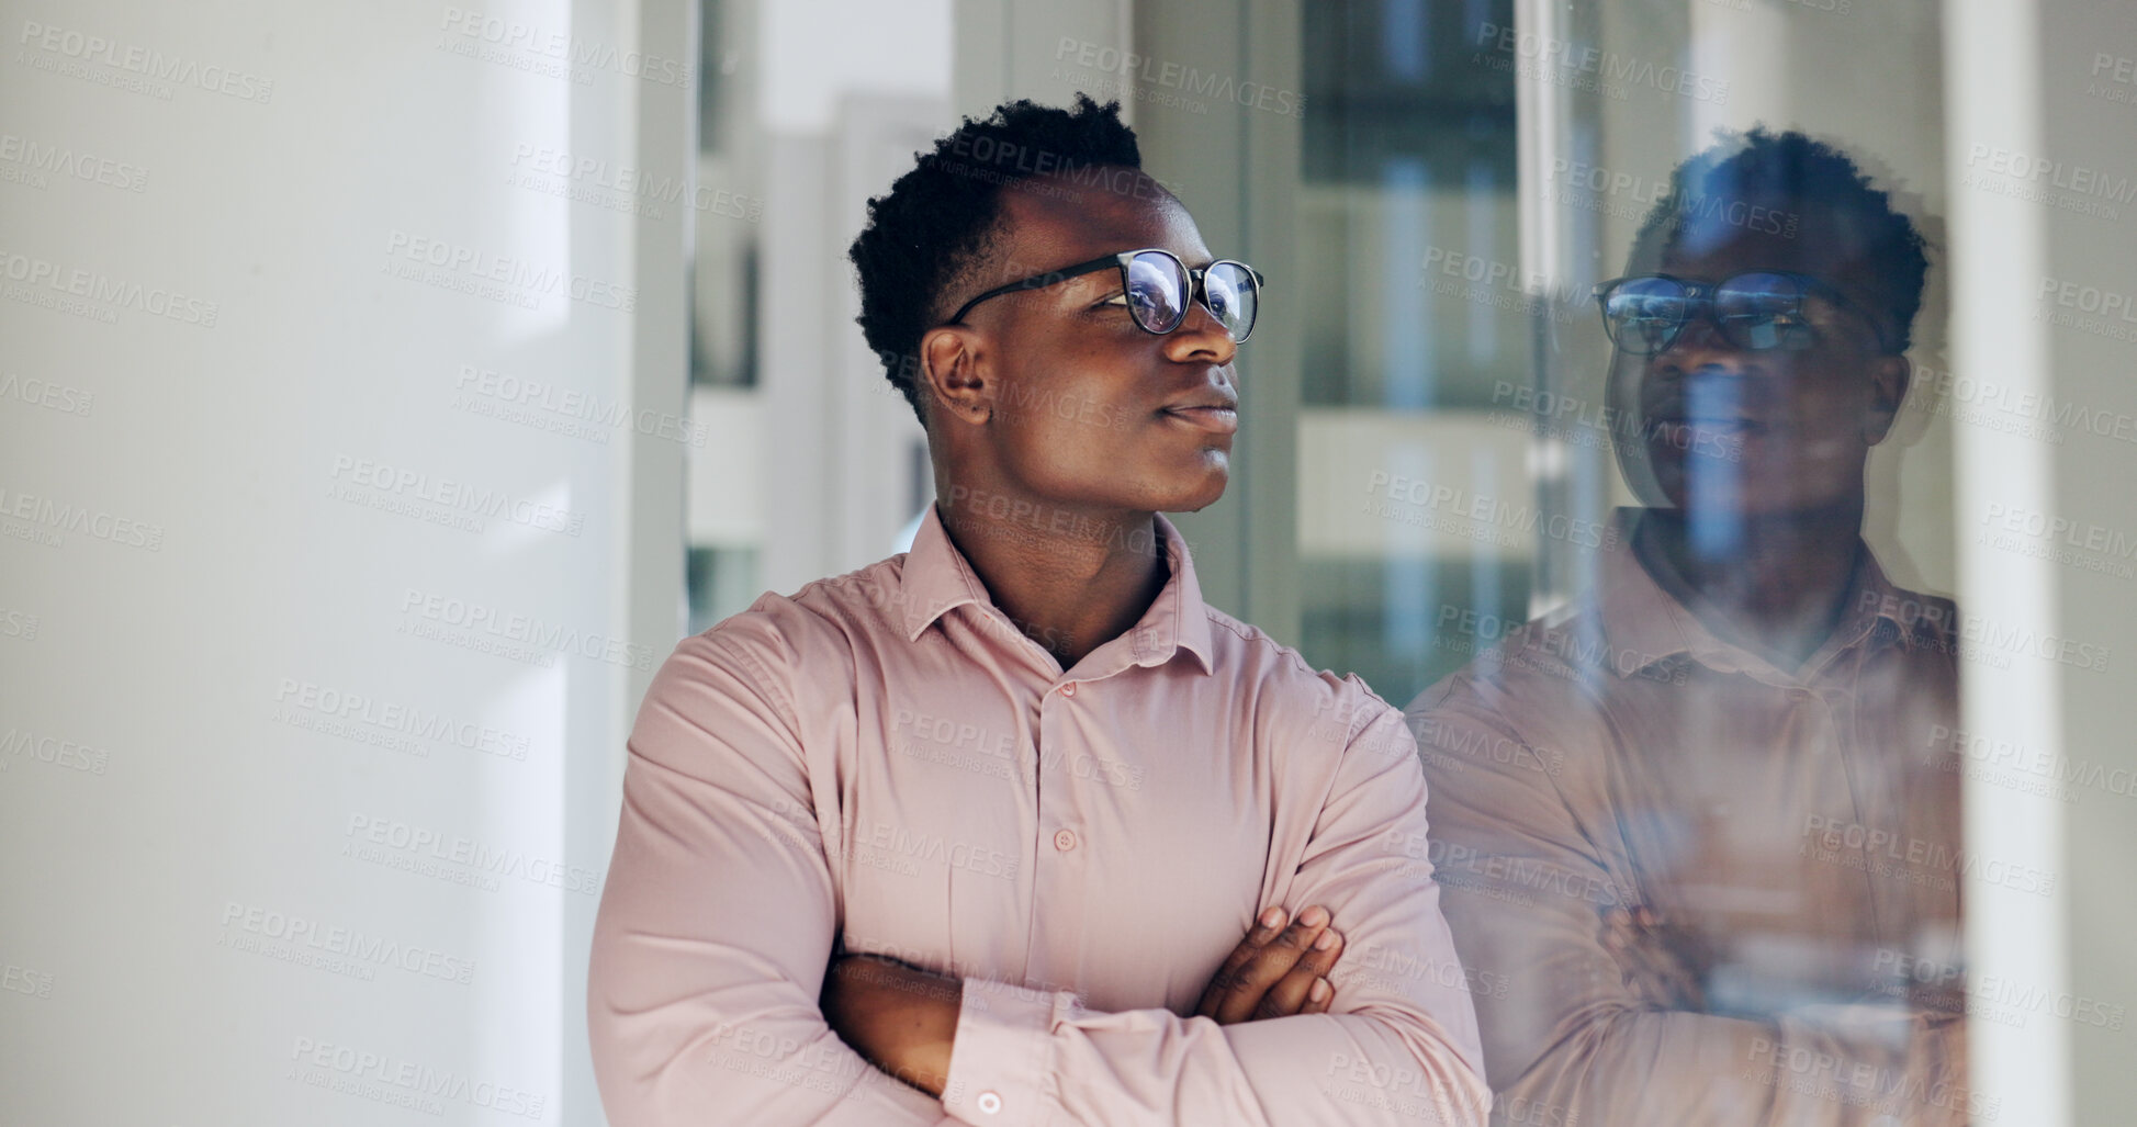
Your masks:
{"label": "both pink shirt sleeves of the real man's crossed arms", "polygon": [[[1425,964],[1453,950],[1436,887],[1387,845],[1423,840],[1423,774],[1415,753],[1355,751],[1391,731],[1406,740],[1402,716],[1383,712],[1344,751],[1297,858],[1293,907],[1327,905],[1351,950]],[[889,1078],[818,1003],[840,911],[823,849],[793,847],[780,815],[816,808],[795,729],[778,680],[705,635],[686,639],[648,693],[588,988],[618,1127],[1483,1121],[1468,994],[1342,969],[1327,1012],[1308,994],[1291,1016],[1239,1024],[1163,1007],[1086,1012],[1066,992],[966,977],[953,1061],[932,1061],[942,1097]]]}

